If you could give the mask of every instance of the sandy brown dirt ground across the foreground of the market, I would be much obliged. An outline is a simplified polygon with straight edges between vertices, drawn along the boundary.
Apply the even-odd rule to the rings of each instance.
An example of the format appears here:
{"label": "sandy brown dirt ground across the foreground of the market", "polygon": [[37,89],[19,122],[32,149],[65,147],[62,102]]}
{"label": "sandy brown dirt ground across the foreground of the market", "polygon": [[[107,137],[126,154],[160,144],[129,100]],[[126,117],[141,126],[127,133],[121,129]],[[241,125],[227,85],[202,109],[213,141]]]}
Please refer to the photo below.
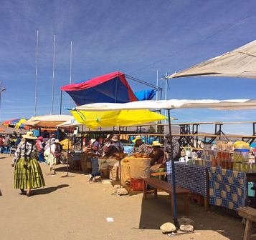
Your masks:
{"label": "sandy brown dirt ground across the foreground of the market", "polygon": [[[233,239],[244,234],[241,219],[224,211],[204,211],[191,203],[189,218],[195,231],[179,236],[161,233],[159,226],[172,221],[169,197],[159,193],[158,199],[141,191],[131,196],[112,195],[108,181],[90,184],[88,176],[57,165],[57,175],[49,174],[49,166],[41,163],[46,186],[34,189],[32,196],[19,195],[13,188],[11,156],[0,154],[0,239]],[[179,204],[179,201],[178,201]],[[184,216],[179,212],[179,217]],[[108,217],[113,222],[108,222]]]}

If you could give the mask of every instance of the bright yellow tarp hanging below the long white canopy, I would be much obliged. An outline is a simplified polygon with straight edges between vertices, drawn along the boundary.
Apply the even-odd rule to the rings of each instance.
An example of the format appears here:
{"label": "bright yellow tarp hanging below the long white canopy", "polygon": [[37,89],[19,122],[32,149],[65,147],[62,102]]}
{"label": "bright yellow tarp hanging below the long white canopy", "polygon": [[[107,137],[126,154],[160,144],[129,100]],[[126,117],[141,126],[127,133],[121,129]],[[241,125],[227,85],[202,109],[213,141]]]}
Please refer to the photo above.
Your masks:
{"label": "bright yellow tarp hanging below the long white canopy", "polygon": [[70,111],[75,120],[96,129],[105,126],[136,126],[151,121],[165,120],[166,116],[147,109],[119,111]]}

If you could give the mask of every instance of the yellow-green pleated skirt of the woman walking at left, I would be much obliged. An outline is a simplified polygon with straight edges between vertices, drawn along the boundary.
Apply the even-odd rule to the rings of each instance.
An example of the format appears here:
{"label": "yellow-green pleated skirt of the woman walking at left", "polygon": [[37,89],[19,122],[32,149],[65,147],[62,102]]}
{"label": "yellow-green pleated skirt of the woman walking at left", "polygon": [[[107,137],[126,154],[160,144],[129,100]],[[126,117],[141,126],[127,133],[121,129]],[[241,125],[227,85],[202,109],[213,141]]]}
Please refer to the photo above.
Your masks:
{"label": "yellow-green pleated skirt of the woman walking at left", "polygon": [[14,189],[37,189],[45,186],[42,169],[37,159],[28,159],[24,167],[24,158],[20,158],[14,169]]}

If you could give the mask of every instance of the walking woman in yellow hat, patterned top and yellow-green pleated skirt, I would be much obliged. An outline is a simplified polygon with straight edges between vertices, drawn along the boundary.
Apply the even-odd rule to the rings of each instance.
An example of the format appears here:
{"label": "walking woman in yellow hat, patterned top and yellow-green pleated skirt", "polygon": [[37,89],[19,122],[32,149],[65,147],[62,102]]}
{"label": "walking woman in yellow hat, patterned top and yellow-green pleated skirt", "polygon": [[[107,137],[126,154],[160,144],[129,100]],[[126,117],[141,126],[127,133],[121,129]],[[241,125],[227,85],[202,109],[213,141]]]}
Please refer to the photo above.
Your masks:
{"label": "walking woman in yellow hat, patterned top and yellow-green pleated skirt", "polygon": [[44,177],[35,156],[34,140],[37,137],[33,136],[32,131],[22,137],[11,161],[11,166],[14,167],[14,189],[21,189],[20,194],[31,196],[31,189],[45,186]]}

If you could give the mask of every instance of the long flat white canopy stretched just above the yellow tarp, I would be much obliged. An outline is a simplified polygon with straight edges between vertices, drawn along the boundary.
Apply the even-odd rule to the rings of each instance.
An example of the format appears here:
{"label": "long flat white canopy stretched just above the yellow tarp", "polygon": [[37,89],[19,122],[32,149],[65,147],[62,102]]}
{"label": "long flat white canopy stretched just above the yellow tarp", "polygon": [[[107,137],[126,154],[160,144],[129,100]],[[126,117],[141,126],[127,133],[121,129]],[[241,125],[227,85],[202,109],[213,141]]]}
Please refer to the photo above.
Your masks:
{"label": "long flat white canopy stretched just above the yellow tarp", "polygon": [[223,110],[240,110],[256,109],[255,99],[229,99],[229,100],[148,100],[133,101],[125,104],[97,103],[77,106],[77,110],[83,111],[110,111],[121,109],[223,109]]}

